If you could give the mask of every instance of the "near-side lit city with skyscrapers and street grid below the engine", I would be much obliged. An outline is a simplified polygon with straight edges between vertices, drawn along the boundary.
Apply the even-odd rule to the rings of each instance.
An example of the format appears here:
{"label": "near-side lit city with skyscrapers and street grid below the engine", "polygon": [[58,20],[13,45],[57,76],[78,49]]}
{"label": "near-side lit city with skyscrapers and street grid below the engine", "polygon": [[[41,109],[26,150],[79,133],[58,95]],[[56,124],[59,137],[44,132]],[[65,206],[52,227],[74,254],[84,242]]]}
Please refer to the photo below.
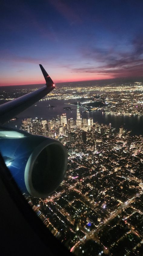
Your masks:
{"label": "near-side lit city with skyscrapers and street grid below the engine", "polygon": [[78,103],[76,120],[27,118],[21,129],[67,148],[67,174],[57,191],[27,198],[54,236],[76,255],[141,255],[142,135],[81,119]]}

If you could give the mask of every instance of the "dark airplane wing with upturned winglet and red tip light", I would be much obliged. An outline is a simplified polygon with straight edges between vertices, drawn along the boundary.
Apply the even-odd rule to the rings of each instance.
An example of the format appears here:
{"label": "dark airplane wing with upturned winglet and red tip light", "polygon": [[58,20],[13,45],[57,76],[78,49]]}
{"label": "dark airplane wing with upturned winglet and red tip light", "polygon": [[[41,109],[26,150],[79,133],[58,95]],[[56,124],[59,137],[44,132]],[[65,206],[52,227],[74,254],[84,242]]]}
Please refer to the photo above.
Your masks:
{"label": "dark airplane wing with upturned winglet and red tip light", "polygon": [[35,102],[43,98],[45,95],[50,93],[54,88],[54,82],[47,74],[46,70],[43,68],[41,64],[39,64],[41,71],[46,80],[46,85],[40,89],[35,90],[34,92],[27,93],[15,100],[11,100],[7,103],[0,105],[0,124],[4,124],[9,121]]}

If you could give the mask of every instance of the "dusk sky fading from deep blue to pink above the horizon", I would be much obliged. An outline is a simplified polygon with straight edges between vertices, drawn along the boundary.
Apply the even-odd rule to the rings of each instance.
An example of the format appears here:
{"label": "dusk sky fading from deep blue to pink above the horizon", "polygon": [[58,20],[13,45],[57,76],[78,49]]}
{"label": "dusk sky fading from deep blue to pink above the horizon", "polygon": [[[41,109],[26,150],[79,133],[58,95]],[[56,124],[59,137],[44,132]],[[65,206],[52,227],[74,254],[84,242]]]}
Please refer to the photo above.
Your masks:
{"label": "dusk sky fading from deep blue to pink above the horizon", "polygon": [[143,1],[3,0],[0,86],[143,76]]}

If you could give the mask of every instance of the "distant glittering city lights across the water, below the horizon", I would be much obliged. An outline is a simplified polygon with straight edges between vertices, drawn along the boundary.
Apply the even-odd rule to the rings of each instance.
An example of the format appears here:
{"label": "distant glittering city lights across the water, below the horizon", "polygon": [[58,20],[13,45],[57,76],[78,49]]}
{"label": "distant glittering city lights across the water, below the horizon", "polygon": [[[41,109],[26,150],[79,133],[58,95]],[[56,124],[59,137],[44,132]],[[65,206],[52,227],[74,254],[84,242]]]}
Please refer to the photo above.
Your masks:
{"label": "distant glittering city lights across the water, below the horizon", "polygon": [[[85,83],[85,84],[84,84]],[[32,89],[15,89],[0,93],[0,100],[13,100]],[[102,110],[105,114],[115,115],[143,115],[143,82],[126,82],[123,85],[118,83],[99,86],[93,82],[76,82],[64,86],[58,86],[42,100],[75,100],[80,99],[79,105],[85,108],[85,112]],[[41,101],[42,101],[41,100]],[[70,102],[71,104],[71,102]]]}

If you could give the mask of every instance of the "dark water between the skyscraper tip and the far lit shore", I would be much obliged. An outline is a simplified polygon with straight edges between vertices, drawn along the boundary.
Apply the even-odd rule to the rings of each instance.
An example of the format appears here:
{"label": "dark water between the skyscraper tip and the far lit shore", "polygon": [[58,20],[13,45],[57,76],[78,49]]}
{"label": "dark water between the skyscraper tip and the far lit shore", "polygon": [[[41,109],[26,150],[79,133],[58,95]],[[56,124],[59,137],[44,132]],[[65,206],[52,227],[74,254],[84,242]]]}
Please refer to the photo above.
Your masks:
{"label": "dark water between the skyscraper tip and the far lit shore", "polygon": [[[8,126],[15,127],[17,125],[17,128],[21,125],[21,120],[28,117],[38,117],[43,119],[51,119],[52,117],[56,117],[57,115],[61,115],[63,113],[67,113],[67,118],[73,117],[74,120],[76,120],[76,106],[70,106],[64,103],[67,103],[69,101],[65,100],[45,100],[37,102],[37,106],[31,106],[24,112],[18,115],[19,119],[16,121],[12,121],[8,123]],[[71,101],[73,102],[73,101]],[[48,105],[56,105],[56,107],[49,108]],[[64,110],[64,107],[72,107],[73,110]],[[143,117],[138,116],[116,116],[116,115],[106,115],[102,114],[102,111],[96,111],[93,113],[82,113],[82,111],[85,110],[84,108],[80,107],[80,113],[82,118],[86,117],[93,117],[94,122],[99,122],[100,124],[112,124],[112,127],[115,127],[117,131],[119,131],[119,127],[123,125],[124,129],[127,129],[128,131],[132,130],[132,135],[143,135]]]}

